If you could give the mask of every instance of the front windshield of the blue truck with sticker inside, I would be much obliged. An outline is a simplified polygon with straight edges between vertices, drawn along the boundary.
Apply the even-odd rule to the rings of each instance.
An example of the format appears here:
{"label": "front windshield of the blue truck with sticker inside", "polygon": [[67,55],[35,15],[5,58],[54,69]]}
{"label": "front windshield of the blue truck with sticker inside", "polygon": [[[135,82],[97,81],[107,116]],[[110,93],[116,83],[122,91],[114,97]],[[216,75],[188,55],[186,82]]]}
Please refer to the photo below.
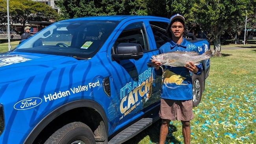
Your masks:
{"label": "front windshield of the blue truck with sticker inside", "polygon": [[15,52],[90,58],[104,44],[118,21],[57,22],[20,44]]}

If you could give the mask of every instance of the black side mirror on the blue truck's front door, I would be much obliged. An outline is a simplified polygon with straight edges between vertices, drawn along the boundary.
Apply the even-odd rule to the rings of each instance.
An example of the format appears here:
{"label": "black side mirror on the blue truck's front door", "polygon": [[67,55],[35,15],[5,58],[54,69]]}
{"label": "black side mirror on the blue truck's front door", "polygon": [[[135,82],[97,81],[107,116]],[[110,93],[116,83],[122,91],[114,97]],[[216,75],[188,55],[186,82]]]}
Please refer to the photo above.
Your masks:
{"label": "black side mirror on the blue truck's front door", "polygon": [[142,46],[136,43],[120,43],[117,45],[115,54],[112,54],[112,57],[115,61],[120,61],[124,59],[138,60],[142,56]]}

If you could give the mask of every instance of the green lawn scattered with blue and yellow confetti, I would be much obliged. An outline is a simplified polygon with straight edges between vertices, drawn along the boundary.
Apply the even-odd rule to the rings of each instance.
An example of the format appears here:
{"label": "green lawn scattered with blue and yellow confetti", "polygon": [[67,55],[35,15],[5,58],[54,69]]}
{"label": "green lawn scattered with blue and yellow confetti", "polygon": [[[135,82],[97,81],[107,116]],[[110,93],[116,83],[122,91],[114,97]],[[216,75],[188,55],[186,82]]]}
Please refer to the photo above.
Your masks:
{"label": "green lawn scattered with blue and yellow confetti", "polygon": [[[202,101],[193,108],[191,144],[256,142],[256,48],[222,54],[211,58]],[[124,144],[155,144],[159,131],[160,121]],[[167,141],[184,143],[181,122],[171,122]]]}

